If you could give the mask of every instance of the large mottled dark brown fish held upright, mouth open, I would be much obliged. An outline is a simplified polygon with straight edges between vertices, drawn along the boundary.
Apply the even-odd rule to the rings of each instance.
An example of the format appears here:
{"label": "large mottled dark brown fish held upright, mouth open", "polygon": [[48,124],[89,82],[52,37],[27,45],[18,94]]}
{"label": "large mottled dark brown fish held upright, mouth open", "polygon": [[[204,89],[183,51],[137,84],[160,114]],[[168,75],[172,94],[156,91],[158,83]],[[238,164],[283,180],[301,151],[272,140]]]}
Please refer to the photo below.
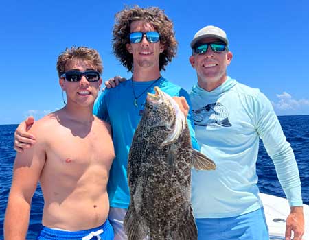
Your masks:
{"label": "large mottled dark brown fish held upright, mouth open", "polygon": [[133,136],[128,158],[130,206],[124,219],[129,240],[196,240],[190,204],[191,167],[216,165],[192,149],[183,112],[155,87]]}

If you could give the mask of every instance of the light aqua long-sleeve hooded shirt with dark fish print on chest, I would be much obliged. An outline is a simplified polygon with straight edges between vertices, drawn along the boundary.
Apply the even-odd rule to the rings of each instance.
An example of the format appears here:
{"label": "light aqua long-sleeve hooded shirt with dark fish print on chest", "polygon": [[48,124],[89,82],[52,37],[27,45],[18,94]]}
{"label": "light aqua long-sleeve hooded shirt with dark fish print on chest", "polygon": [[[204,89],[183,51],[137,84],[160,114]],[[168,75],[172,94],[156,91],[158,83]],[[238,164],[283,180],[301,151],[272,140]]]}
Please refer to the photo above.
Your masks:
{"label": "light aqua long-sleeve hooded shirt with dark fish print on chest", "polygon": [[201,152],[216,163],[215,171],[192,170],[196,218],[234,217],[262,207],[255,169],[259,137],[290,206],[302,206],[293,150],[271,102],[260,90],[227,77],[211,92],[194,86],[190,99]]}

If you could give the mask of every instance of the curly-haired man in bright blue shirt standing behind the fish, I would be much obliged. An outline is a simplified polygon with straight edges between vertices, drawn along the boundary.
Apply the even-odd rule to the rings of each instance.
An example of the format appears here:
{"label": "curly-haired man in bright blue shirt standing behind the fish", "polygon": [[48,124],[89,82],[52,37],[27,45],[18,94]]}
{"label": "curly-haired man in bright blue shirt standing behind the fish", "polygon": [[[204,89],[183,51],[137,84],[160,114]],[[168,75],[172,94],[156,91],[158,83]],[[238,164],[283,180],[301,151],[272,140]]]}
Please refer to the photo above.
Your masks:
{"label": "curly-haired man in bright blue shirt standing behind the fish", "polygon": [[[93,108],[95,115],[111,123],[116,158],[108,181],[110,199],[109,219],[115,236],[126,239],[122,221],[130,203],[127,180],[128,153],[131,141],[144,110],[147,92],[154,87],[180,101],[190,104],[187,92],[161,76],[161,69],[174,58],[176,39],[172,21],[159,8],[131,8],[116,14],[113,28],[113,51],[120,62],[132,71],[130,80],[117,88],[106,89]],[[179,99],[178,99],[179,100]],[[182,105],[182,104],[180,104]],[[187,121],[192,144],[198,149],[194,138],[194,125],[190,112]]]}

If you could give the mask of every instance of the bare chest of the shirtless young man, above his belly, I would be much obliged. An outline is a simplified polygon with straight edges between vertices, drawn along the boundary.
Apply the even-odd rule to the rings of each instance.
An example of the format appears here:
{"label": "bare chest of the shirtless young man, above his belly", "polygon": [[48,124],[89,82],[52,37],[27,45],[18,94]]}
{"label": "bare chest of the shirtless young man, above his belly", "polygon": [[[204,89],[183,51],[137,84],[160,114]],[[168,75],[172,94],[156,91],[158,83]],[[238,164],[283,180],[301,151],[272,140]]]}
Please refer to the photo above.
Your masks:
{"label": "bare chest of the shirtless young man, above his belly", "polygon": [[113,142],[106,131],[74,136],[69,131],[53,133],[46,149],[45,167],[69,175],[109,169],[115,157]]}

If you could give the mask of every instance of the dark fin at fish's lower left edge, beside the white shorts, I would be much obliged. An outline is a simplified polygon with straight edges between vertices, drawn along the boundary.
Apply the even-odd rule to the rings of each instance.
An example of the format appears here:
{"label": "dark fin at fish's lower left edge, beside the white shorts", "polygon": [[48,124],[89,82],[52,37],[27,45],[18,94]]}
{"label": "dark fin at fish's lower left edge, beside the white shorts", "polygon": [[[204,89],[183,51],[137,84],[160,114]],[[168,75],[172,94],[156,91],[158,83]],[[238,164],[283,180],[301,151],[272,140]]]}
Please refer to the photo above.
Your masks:
{"label": "dark fin at fish's lower left edge, beside the white shorts", "polygon": [[147,236],[147,230],[135,213],[135,208],[131,205],[124,217],[124,231],[128,240],[143,240]]}

